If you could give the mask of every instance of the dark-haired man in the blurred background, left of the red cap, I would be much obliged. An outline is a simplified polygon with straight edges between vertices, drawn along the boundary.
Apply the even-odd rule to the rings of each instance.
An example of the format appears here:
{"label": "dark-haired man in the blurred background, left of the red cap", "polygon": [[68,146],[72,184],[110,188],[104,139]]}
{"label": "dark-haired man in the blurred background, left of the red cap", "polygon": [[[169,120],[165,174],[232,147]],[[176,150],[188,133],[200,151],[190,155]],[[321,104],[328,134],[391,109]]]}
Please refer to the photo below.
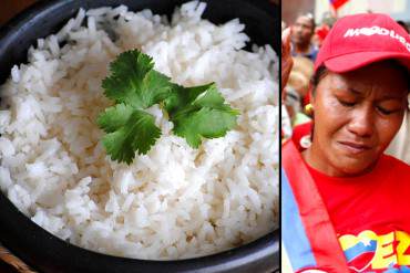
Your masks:
{"label": "dark-haired man in the blurred background, left of the red cap", "polygon": [[299,15],[291,27],[291,55],[305,56],[315,62],[318,49],[311,43],[314,34],[314,17],[310,13]]}

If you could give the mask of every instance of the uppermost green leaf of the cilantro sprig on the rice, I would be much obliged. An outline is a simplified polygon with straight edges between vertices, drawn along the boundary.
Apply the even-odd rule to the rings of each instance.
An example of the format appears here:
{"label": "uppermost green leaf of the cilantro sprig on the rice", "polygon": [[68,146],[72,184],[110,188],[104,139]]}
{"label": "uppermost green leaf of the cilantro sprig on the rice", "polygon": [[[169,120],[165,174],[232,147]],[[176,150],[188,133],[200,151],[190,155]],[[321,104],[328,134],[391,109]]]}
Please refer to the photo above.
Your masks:
{"label": "uppermost green leaf of the cilantro sprig on the rice", "polygon": [[137,50],[121,53],[103,80],[106,97],[145,109],[162,102],[171,92],[170,77],[153,70],[152,57]]}

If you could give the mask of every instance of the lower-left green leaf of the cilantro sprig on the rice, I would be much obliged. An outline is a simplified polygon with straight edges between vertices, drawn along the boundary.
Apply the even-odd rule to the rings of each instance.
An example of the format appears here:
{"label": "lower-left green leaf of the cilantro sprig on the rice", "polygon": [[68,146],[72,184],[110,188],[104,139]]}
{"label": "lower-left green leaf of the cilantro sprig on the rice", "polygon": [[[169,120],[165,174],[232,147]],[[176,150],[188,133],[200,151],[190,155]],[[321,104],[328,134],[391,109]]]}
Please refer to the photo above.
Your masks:
{"label": "lower-left green leaf of the cilantro sprig on the rice", "polygon": [[145,155],[161,136],[161,129],[151,114],[125,104],[106,109],[98,123],[109,133],[102,143],[111,159],[129,165],[136,151]]}

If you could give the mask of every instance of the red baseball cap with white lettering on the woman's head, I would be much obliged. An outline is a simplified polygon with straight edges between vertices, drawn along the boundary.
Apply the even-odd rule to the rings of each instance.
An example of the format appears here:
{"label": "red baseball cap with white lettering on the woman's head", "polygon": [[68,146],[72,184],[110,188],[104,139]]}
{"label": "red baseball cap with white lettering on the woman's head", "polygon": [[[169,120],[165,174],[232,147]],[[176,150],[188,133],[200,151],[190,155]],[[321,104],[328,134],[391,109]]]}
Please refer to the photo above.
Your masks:
{"label": "red baseball cap with white lettering on the woman's head", "polygon": [[339,19],[326,36],[315,62],[336,73],[394,59],[410,71],[410,35],[389,15],[366,13]]}

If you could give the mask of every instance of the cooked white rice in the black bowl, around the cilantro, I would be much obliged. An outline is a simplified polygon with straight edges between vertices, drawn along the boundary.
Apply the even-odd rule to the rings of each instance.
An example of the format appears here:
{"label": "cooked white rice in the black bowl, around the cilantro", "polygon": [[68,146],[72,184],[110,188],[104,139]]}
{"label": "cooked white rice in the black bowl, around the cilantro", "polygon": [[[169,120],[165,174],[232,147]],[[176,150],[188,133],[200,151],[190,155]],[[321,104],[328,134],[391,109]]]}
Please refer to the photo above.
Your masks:
{"label": "cooked white rice in the black bowl, around the cilantro", "polygon": [[[0,90],[0,188],[32,221],[85,249],[154,260],[221,252],[278,227],[277,56],[240,50],[244,24],[215,25],[204,10],[185,3],[170,24],[150,10],[81,9],[12,67]],[[101,81],[135,48],[173,82],[216,82],[240,111],[237,128],[193,149],[152,107],[161,139],[131,166],[111,161],[95,124],[111,104]]]}

